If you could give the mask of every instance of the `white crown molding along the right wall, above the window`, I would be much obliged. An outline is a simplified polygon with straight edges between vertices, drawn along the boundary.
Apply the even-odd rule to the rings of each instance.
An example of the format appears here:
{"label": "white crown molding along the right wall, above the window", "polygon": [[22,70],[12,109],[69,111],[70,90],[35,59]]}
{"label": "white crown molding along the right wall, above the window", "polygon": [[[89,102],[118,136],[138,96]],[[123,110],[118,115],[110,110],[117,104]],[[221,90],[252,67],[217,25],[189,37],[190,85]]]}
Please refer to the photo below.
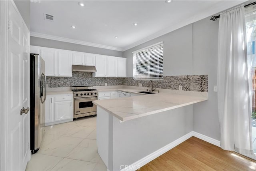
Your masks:
{"label": "white crown molding along the right wall, above the window", "polygon": [[[188,18],[187,20],[184,20],[182,22],[176,23],[176,24],[172,24],[172,26],[169,26],[168,28],[165,28],[159,32],[156,32],[146,38],[143,38],[137,42],[134,42],[133,44],[130,44],[128,46],[125,46],[124,48],[122,48],[122,51],[126,51],[129,50],[131,48],[134,48],[135,46],[138,46],[140,44],[146,43],[150,40],[153,40],[155,38],[158,38],[159,36],[163,36],[164,34],[170,33],[174,30],[177,30],[179,28],[182,28],[184,26],[187,26],[188,24],[192,24],[194,22],[197,22],[199,20],[202,20],[206,17],[209,17],[211,15],[220,13],[224,10],[227,10],[228,8],[232,8],[233,6],[239,5],[243,2],[246,2],[247,0],[236,0],[236,1],[223,1],[223,2],[217,2],[215,4],[215,6],[211,6],[210,9],[206,9],[205,11],[200,11],[200,13],[198,13],[197,15],[194,15],[190,18]],[[210,20],[210,19],[209,19]]]}

